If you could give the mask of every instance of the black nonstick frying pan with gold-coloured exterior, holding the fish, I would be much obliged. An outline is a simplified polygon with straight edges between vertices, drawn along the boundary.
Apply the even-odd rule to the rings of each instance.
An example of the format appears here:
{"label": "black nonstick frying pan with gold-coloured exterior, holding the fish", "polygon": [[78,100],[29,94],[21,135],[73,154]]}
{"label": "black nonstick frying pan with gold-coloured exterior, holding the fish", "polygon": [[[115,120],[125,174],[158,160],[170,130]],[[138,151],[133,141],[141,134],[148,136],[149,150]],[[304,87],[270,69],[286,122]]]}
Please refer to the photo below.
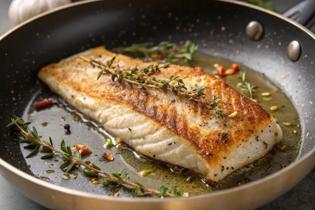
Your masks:
{"label": "black nonstick frying pan with gold-coloured exterior, holding the fish", "polygon": [[[310,9],[312,3],[306,1],[300,6]],[[287,11],[293,19],[311,25],[312,13],[299,12],[296,8]],[[245,33],[251,21],[258,21],[262,26],[254,25],[251,27],[254,31],[248,31],[256,41]],[[192,29],[183,30],[191,24]],[[180,26],[180,30],[176,26]],[[261,37],[258,36],[260,28],[263,29]],[[239,187],[174,199],[93,194],[32,176],[20,145],[13,135],[6,135],[5,126],[13,114],[22,116],[29,108],[29,101],[40,86],[36,74],[41,67],[100,45],[112,48],[165,40],[179,43],[188,39],[199,44],[206,54],[244,64],[263,73],[274,84],[281,83],[301,120],[302,145],[294,163]],[[296,42],[292,44],[292,41]],[[257,48],[257,45],[265,47]],[[0,37],[0,172],[24,195],[49,209],[257,208],[291,189],[315,166],[314,48],[315,35],[303,26],[282,15],[232,0],[150,3],[88,0],[46,12]],[[288,55],[296,61],[290,60]],[[281,76],[287,74],[289,79],[283,80]]]}

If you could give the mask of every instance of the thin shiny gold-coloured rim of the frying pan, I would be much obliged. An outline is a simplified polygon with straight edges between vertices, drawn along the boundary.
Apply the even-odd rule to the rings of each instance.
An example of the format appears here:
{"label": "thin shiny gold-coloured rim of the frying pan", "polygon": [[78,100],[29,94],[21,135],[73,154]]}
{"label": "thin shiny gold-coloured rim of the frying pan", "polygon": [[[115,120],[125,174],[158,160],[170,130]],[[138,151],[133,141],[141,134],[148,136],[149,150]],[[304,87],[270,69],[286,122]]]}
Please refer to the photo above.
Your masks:
{"label": "thin shiny gold-coloured rim of the frying pan", "polygon": [[[19,24],[18,26],[15,26],[13,29],[11,29],[8,32],[6,32],[5,34],[3,34],[0,37],[0,42],[5,37],[9,36],[10,33],[18,30],[20,27],[22,27],[22,26],[28,24],[29,22],[31,22],[33,20],[36,20],[36,19],[38,19],[38,18],[40,18],[42,16],[48,15],[50,13],[53,13],[55,11],[59,11],[59,10],[62,10],[62,9],[74,7],[76,5],[90,3],[90,2],[96,2],[96,1],[102,1],[102,0],[85,0],[85,1],[80,1],[80,2],[76,2],[76,3],[71,3],[71,4],[68,4],[68,5],[64,5],[64,6],[61,6],[59,8],[52,9],[52,10],[49,10],[49,11],[44,12],[42,14],[39,14],[39,15],[29,19],[29,20],[26,20],[25,22]],[[234,3],[234,4],[246,6],[246,7],[252,8],[252,9],[260,10],[262,12],[271,14],[273,16],[276,16],[276,17],[278,17],[278,18],[280,18],[280,19],[282,19],[284,21],[287,21],[290,24],[296,26],[297,28],[299,28],[303,32],[307,33],[310,37],[312,37],[315,40],[315,35],[311,31],[306,29],[304,26],[301,26],[300,24],[296,23],[295,21],[284,17],[281,14],[269,11],[267,9],[264,9],[264,8],[261,8],[261,7],[258,7],[258,6],[249,4],[249,3],[239,2],[239,1],[235,1],[235,0],[216,0],[216,1]],[[267,183],[267,182],[271,181],[272,179],[274,179],[275,177],[281,176],[281,175],[283,175],[285,173],[288,173],[291,170],[294,170],[294,168],[298,164],[304,162],[310,156],[314,156],[315,157],[315,147],[310,152],[308,152],[306,155],[304,155],[300,160],[290,164],[288,167],[285,167],[282,170],[280,170],[280,171],[278,171],[276,173],[270,174],[270,175],[268,175],[268,176],[266,176],[266,177],[264,177],[262,179],[255,180],[253,182],[244,184],[242,186],[234,187],[232,189],[225,189],[225,190],[220,190],[220,191],[211,192],[211,193],[207,193],[207,194],[186,197],[186,198],[178,197],[178,198],[173,198],[173,199],[146,199],[145,202],[160,203],[160,202],[167,202],[167,201],[172,201],[172,200],[182,201],[182,200],[191,200],[191,199],[195,199],[195,198],[202,199],[202,198],[205,198],[205,197],[209,198],[209,197],[214,197],[214,196],[222,196],[223,194],[235,193],[235,192],[240,191],[240,190],[246,190],[246,189],[258,186],[260,184]],[[106,195],[96,195],[96,194],[92,194],[92,193],[87,193],[87,192],[78,191],[78,190],[72,190],[72,189],[69,189],[69,188],[61,187],[59,185],[51,184],[51,183],[45,182],[43,180],[37,179],[37,178],[31,176],[30,174],[27,174],[27,173],[19,170],[18,168],[10,165],[8,162],[5,162],[1,158],[0,158],[0,165],[2,167],[6,168],[8,171],[10,171],[10,172],[12,172],[12,173],[14,173],[14,174],[24,178],[24,179],[29,180],[29,181],[31,181],[34,184],[38,184],[38,185],[41,185],[43,187],[49,188],[51,190],[60,191],[60,192],[67,193],[67,194],[70,194],[70,195],[73,195],[73,196],[81,196],[81,197],[85,197],[85,198],[94,198],[94,199],[107,200],[107,201],[127,201],[127,202],[139,202],[139,201],[142,201],[143,202],[143,198],[129,198],[129,197],[120,197],[120,198],[118,197],[117,198],[117,197],[106,196]],[[315,162],[313,162],[313,166],[312,167],[315,167]]]}

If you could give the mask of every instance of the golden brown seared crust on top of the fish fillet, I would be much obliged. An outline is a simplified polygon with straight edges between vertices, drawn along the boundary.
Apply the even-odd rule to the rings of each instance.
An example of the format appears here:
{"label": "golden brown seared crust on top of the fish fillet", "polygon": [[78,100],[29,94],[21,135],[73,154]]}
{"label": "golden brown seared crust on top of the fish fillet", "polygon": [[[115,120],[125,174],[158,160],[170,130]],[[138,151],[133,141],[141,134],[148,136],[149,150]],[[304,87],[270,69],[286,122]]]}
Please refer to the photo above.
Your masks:
{"label": "golden brown seared crust on top of the fish fillet", "polygon": [[[124,55],[113,54],[99,47],[91,50],[86,57],[99,54],[102,57],[113,57],[116,60],[113,66],[119,61],[123,61],[123,68],[133,68],[135,65],[147,66],[151,63],[145,63]],[[77,71],[75,68],[81,68],[83,71]],[[207,86],[206,92],[211,95],[218,95],[223,103],[219,108],[227,115],[238,111],[237,116],[224,119],[217,117],[213,113],[201,109],[198,104],[190,103],[186,99],[176,96],[175,99],[165,100],[160,95],[149,91],[142,91],[136,87],[130,87],[128,84],[120,85],[113,83],[110,76],[103,75],[96,80],[98,72],[94,76],[87,74],[85,68],[92,66],[80,58],[61,62],[60,64],[51,64],[39,72],[55,77],[60,83],[71,86],[77,92],[84,92],[91,98],[101,100],[113,100],[124,103],[134,110],[149,116],[152,120],[167,127],[170,131],[186,138],[198,154],[203,156],[208,163],[216,163],[217,160],[225,156],[229,151],[237,148],[242,141],[246,141],[251,136],[257,136],[259,128],[265,127],[273,121],[260,105],[249,98],[240,94],[223,80],[217,79],[212,75],[201,72],[198,69],[185,66],[170,65],[168,68],[160,68],[161,72],[154,74],[157,79],[169,78],[171,75],[180,75],[187,87],[197,85]],[[61,69],[61,71],[58,71]],[[162,92],[162,91],[161,91]],[[165,93],[169,96],[175,93]],[[183,111],[178,113],[176,105],[185,104]],[[189,116],[188,116],[189,115]],[[188,121],[194,117],[202,119],[195,125]],[[209,119],[214,122],[219,129],[207,130]],[[223,132],[222,132],[223,131]]]}

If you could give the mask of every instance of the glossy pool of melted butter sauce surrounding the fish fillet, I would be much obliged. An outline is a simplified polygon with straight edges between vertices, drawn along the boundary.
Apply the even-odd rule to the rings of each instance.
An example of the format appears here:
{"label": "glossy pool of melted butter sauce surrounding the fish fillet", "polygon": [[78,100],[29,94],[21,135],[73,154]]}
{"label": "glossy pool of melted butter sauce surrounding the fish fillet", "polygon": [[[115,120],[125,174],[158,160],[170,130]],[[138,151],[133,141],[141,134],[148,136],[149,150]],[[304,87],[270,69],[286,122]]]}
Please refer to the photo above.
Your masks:
{"label": "glossy pool of melted butter sauce surrounding the fish fillet", "polygon": [[[196,59],[191,65],[200,66],[203,71],[207,73],[212,73],[212,71],[215,70],[214,64],[223,65],[225,69],[230,68],[232,65],[232,63],[227,60],[213,58],[203,54],[197,54],[195,58]],[[106,148],[106,139],[111,138],[115,142],[114,137],[110,136],[103,128],[100,128],[97,123],[84,118],[81,113],[76,112],[73,107],[67,105],[62,99],[58,99],[60,101],[60,104],[58,105],[53,105],[47,109],[28,112],[27,120],[33,121],[32,125],[37,128],[38,133],[42,135],[45,140],[51,136],[55,142],[54,144],[56,145],[60,144],[61,139],[65,139],[67,145],[88,145],[93,153],[90,156],[84,157],[84,159],[94,162],[108,173],[112,173],[114,171],[119,173],[128,173],[128,179],[130,181],[138,181],[141,184],[155,189],[158,189],[161,185],[175,186],[180,190],[188,192],[190,195],[231,188],[262,178],[270,173],[274,173],[280,170],[281,163],[288,165],[291,162],[294,162],[298,155],[301,140],[299,117],[291,101],[281,92],[279,88],[273,85],[263,75],[242,65],[240,65],[240,69],[241,71],[247,72],[248,82],[258,86],[257,91],[254,93],[254,99],[257,99],[258,103],[264,109],[269,111],[273,117],[278,119],[278,124],[283,131],[283,140],[266,156],[229,175],[217,187],[211,187],[205,184],[203,176],[197,173],[188,169],[149,159],[135,152],[128,145],[120,144],[117,147]],[[239,91],[237,83],[242,81],[238,77],[238,72],[223,79],[230,86]],[[264,92],[269,92],[272,100],[263,101],[261,93]],[[42,93],[37,96],[35,101],[51,97],[55,97],[55,95],[46,87],[43,88]],[[277,111],[270,111],[269,108],[273,105],[278,106]],[[43,122],[45,122],[44,125],[42,125]],[[284,122],[290,122],[292,125],[285,126],[283,124]],[[68,135],[63,129],[65,124],[70,124],[71,126],[71,133]],[[286,150],[281,151],[279,148],[283,145],[286,145],[287,148]],[[29,151],[23,149],[23,146],[24,145],[21,144],[23,155],[26,156]],[[114,155],[114,161],[104,161],[101,157],[104,152],[112,153]],[[26,159],[27,164],[31,165],[31,169],[34,174],[38,174],[39,176],[45,174],[45,176],[48,176],[55,184],[99,194],[105,193],[108,195],[115,195],[115,193],[119,191],[120,195],[124,195],[122,192],[124,188],[119,187],[119,185],[110,186],[107,189],[107,187],[103,187],[101,184],[91,184],[91,182],[95,182],[95,180],[82,175],[82,172],[79,172],[79,169],[77,168],[74,169],[74,172],[77,173],[77,176],[75,177],[78,177],[78,179],[69,179],[66,182],[56,179],[56,177],[60,177],[60,175],[64,173],[59,169],[59,166],[62,163],[60,158],[47,160],[47,162],[45,162],[47,168],[45,169],[38,166],[40,165],[37,164],[38,161],[41,161],[40,156],[34,156]],[[56,165],[55,173],[46,172],[49,169],[49,166],[53,165],[51,163]],[[144,170],[152,170],[153,173],[142,177],[140,172]],[[188,177],[191,177],[189,182],[186,181]],[[128,194],[125,195],[128,196]]]}

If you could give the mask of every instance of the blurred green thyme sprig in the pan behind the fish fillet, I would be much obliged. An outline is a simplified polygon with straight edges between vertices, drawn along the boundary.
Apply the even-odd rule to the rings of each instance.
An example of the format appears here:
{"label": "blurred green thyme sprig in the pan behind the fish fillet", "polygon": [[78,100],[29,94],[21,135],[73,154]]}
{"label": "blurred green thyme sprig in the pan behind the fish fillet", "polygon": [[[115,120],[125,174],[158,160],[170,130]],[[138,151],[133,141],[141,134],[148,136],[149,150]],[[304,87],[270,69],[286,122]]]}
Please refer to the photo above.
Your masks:
{"label": "blurred green thyme sprig in the pan behind the fish fillet", "polygon": [[174,63],[180,59],[185,61],[192,60],[198,46],[190,41],[186,41],[184,47],[180,47],[175,43],[161,42],[157,46],[148,48],[150,43],[133,44],[130,47],[113,48],[111,51],[120,54],[133,54],[136,57],[145,57],[145,60],[154,56],[165,59],[167,62]]}

